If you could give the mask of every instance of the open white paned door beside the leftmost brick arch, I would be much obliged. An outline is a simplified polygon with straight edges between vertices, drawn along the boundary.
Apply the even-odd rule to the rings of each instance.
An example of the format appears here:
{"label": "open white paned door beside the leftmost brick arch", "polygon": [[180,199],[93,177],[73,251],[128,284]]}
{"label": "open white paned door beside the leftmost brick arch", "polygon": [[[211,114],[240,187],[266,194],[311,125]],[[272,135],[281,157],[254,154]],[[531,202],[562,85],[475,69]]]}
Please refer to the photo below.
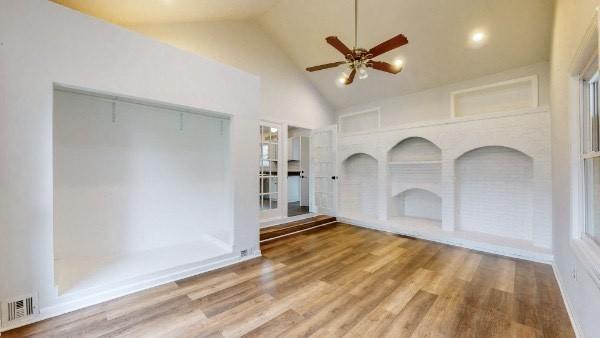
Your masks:
{"label": "open white paned door beside the leftmost brick arch", "polygon": [[310,137],[310,211],[329,216],[337,209],[337,126],[312,131]]}

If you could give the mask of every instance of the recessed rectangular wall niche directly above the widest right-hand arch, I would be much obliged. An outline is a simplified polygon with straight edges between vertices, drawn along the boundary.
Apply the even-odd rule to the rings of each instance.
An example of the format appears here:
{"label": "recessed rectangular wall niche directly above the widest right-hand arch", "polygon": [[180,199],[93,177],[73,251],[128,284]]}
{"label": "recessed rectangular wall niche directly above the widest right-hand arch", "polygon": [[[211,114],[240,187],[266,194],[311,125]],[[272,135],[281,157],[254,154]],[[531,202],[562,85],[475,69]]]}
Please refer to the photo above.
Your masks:
{"label": "recessed rectangular wall niche directly above the widest right-hand arch", "polygon": [[453,117],[509,112],[538,106],[537,75],[451,93]]}

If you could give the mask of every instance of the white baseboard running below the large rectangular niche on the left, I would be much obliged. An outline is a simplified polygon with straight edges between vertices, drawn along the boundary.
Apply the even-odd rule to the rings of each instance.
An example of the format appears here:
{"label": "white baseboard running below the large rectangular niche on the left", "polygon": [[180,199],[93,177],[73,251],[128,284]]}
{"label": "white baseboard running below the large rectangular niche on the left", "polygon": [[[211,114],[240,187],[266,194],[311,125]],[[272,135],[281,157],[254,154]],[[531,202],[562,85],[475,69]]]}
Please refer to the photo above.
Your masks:
{"label": "white baseboard running below the large rectangular niche on the left", "polygon": [[156,286],[171,283],[192,277],[204,272],[211,270],[220,269],[236,263],[241,263],[250,259],[261,256],[260,250],[254,251],[254,255],[247,257],[229,256],[220,260],[211,261],[209,263],[198,263],[197,265],[186,265],[178,269],[170,269],[167,272],[161,274],[152,274],[144,279],[135,280],[127,284],[120,285],[117,288],[111,288],[103,292],[95,292],[85,296],[69,297],[70,300],[61,302],[59,304],[42,307],[39,315],[36,315],[27,322],[15,323],[12,326],[6,326],[0,328],[0,334],[2,332],[12,330],[21,326],[29,325],[35,322],[39,322],[48,318],[56,317],[65,313],[80,310],[92,305],[104,303],[116,298],[127,296],[139,291],[147,290]]}

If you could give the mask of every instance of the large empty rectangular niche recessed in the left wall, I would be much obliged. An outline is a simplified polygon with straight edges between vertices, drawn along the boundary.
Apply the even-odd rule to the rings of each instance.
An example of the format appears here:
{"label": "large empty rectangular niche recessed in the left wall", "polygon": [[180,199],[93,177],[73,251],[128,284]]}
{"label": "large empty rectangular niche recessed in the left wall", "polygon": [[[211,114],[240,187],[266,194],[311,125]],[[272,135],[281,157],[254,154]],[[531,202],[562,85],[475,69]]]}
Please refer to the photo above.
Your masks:
{"label": "large empty rectangular niche recessed in the left wall", "polygon": [[227,118],[62,88],[53,115],[61,294],[231,254]]}

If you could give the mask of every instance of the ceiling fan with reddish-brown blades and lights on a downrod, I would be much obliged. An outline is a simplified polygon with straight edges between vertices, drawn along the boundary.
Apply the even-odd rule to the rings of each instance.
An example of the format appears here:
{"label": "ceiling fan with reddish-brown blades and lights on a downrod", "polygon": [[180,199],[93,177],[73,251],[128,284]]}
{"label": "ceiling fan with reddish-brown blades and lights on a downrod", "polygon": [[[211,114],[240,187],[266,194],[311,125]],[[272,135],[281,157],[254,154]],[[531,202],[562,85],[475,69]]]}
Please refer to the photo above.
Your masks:
{"label": "ceiling fan with reddish-brown blades and lights on a downrod", "polygon": [[323,70],[327,68],[334,68],[340,65],[347,65],[348,70],[344,72],[340,82],[345,85],[349,85],[354,81],[354,77],[358,72],[359,79],[365,79],[369,74],[367,68],[373,68],[387,73],[398,74],[402,71],[402,64],[391,65],[383,61],[375,61],[374,57],[379,56],[383,53],[387,53],[393,49],[404,46],[408,43],[408,39],[403,34],[398,34],[393,38],[378,44],[377,46],[367,50],[364,48],[357,47],[357,35],[358,35],[358,0],[354,0],[354,48],[348,48],[337,36],[328,36],[325,38],[328,44],[337,49],[344,55],[345,61],[338,61],[332,63],[326,63],[324,65],[308,67],[306,68],[309,72],[315,72],[317,70]]}

